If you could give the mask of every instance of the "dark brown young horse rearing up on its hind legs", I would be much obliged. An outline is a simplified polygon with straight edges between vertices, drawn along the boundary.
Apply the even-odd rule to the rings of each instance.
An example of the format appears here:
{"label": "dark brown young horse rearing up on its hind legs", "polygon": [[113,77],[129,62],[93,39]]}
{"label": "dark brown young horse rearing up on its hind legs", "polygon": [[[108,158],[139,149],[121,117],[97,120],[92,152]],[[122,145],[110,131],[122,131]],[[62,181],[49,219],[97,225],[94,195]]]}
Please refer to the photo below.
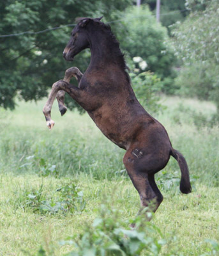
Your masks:
{"label": "dark brown young horse rearing up on its hind legs", "polygon": [[[139,192],[141,205],[146,207],[154,202],[152,210],[156,211],[163,196],[156,186],[155,173],[162,170],[173,156],[181,169],[180,190],[190,193],[188,166],[183,155],[172,148],[163,125],[149,115],[136,99],[119,43],[110,27],[100,19],[77,19],[63,56],[65,60],[72,61],[76,54],[89,48],[91,63],[84,75],[73,67],[66,71],[64,81],[53,84],[43,113],[47,125],[52,128],[52,103],[60,90],[67,92],[87,111],[109,140],[126,150],[123,163]],[[79,81],[78,87],[69,83],[72,76]],[[58,97],[62,114],[66,111],[63,91],[61,99]]]}

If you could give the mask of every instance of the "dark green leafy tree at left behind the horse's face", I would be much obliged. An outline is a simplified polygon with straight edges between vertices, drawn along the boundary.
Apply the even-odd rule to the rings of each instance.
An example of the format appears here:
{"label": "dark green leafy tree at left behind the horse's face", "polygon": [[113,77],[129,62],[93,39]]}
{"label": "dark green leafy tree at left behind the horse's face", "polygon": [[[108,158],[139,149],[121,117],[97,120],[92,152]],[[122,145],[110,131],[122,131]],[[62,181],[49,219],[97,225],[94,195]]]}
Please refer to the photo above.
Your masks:
{"label": "dark green leafy tree at left behind the horse's face", "polygon": [[[128,4],[132,1],[4,0],[0,2],[0,35],[73,24],[76,17],[103,15],[105,20],[119,19],[121,10]],[[71,30],[72,26],[0,37],[0,106],[13,109],[18,93],[24,100],[38,100],[47,94],[52,83],[63,79],[64,70],[72,65],[62,57]],[[88,64],[87,51],[73,63],[82,71]]]}

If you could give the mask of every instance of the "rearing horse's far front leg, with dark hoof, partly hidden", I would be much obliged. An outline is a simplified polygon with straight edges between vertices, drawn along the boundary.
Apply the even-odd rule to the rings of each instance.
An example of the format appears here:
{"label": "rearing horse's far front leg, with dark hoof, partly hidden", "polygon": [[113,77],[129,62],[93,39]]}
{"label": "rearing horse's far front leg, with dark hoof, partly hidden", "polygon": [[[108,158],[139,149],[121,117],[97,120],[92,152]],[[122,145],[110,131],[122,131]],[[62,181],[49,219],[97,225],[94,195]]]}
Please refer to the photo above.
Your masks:
{"label": "rearing horse's far front leg, with dark hoof, partly hidden", "polygon": [[[83,76],[83,74],[82,74],[82,72],[80,72],[79,68],[72,67],[72,68],[68,68],[66,70],[63,80],[70,83],[70,79],[72,77],[75,77],[77,79],[78,83],[80,83],[80,79],[81,79],[82,76]],[[64,105],[64,94],[65,94],[65,92],[63,90],[59,90],[59,92],[57,92],[57,95],[56,95],[56,99],[57,99],[57,102],[59,104],[59,111],[60,111],[62,116],[67,111],[67,108]]]}

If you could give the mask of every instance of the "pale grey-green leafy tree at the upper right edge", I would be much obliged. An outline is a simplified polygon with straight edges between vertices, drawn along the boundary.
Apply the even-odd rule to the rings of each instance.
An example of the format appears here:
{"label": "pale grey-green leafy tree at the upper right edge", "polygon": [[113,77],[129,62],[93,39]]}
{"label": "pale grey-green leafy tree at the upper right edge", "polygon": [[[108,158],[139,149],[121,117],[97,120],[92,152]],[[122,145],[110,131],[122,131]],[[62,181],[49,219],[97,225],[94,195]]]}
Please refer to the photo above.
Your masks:
{"label": "pale grey-green leafy tree at the upper right edge", "polygon": [[[219,117],[219,2],[218,0],[187,0],[189,17],[173,29],[173,46],[176,56],[185,65],[181,77],[196,83],[187,83],[186,90],[199,99],[213,100]],[[190,70],[193,70],[191,73]],[[183,86],[179,77],[177,82]]]}

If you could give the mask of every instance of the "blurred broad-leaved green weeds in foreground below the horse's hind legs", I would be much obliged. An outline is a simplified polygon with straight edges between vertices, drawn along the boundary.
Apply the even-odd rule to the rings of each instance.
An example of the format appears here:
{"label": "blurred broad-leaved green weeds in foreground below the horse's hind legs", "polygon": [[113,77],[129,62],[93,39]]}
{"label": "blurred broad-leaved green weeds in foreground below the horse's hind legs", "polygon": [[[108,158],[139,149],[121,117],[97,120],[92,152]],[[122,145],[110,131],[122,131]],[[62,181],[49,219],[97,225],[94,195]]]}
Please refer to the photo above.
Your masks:
{"label": "blurred broad-leaved green weeds in foreground below the horse's hind legs", "polygon": [[123,228],[121,213],[110,204],[100,206],[98,218],[93,221],[93,225],[87,225],[82,234],[61,242],[62,245],[75,245],[76,250],[68,255],[138,256],[143,251],[147,255],[159,255],[162,246],[167,243],[160,230],[147,222],[143,215],[131,220],[136,223],[135,230]]}

